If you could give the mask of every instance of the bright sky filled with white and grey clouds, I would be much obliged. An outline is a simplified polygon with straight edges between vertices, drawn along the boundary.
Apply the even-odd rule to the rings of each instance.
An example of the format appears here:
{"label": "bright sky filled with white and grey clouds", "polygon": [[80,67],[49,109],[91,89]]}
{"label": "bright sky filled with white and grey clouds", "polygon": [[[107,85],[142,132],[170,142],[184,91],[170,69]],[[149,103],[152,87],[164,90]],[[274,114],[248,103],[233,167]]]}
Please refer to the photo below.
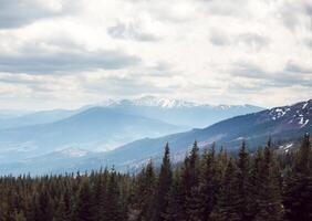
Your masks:
{"label": "bright sky filled with white and grey clouds", "polygon": [[0,0],[0,109],[312,98],[310,0]]}

